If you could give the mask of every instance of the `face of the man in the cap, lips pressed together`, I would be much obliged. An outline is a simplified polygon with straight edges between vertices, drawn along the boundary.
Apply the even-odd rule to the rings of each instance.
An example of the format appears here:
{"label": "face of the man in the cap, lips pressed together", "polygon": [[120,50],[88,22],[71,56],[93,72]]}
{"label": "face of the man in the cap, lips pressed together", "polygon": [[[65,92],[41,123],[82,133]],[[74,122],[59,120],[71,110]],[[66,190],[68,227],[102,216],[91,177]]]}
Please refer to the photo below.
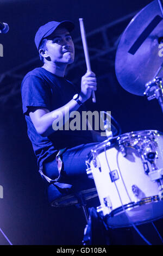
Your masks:
{"label": "face of the man in the cap, lips pressed together", "polygon": [[74,44],[66,28],[59,27],[47,37],[46,53],[53,63],[73,63]]}

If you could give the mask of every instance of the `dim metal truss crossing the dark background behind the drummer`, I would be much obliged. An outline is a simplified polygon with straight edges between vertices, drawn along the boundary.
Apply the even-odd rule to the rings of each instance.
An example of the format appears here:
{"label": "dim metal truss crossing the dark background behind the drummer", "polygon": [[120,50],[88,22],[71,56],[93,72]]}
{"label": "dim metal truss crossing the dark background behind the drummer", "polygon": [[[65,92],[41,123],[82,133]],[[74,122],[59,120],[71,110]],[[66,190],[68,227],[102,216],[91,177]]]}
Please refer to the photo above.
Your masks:
{"label": "dim metal truss crossing the dark background behind the drummer", "polygon": [[[92,70],[96,72],[97,77],[107,77],[109,70],[114,69],[115,54],[120,41],[121,34],[127,27],[129,21],[135,16],[130,13],[120,19],[99,27],[89,33],[86,33],[87,45],[89,48],[90,62]],[[73,40],[76,49],[76,58],[74,63],[67,68],[67,78],[72,82],[79,81],[80,72],[86,70],[84,51],[81,37]],[[18,108],[21,106],[20,85],[24,75],[36,66],[40,66],[39,57],[30,59],[28,62],[16,66],[15,68],[0,75],[0,104],[9,108]],[[3,109],[3,107],[1,108]]]}

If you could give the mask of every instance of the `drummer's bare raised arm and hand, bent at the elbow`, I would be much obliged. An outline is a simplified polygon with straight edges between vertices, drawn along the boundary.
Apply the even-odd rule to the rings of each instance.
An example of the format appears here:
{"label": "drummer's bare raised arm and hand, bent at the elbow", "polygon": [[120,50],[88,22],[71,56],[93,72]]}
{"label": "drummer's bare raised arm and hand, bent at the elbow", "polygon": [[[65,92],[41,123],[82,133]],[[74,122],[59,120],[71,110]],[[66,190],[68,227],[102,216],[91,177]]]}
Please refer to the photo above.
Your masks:
{"label": "drummer's bare raised arm and hand, bent at the elbow", "polygon": [[[85,102],[92,94],[92,90],[97,89],[96,76],[93,72],[88,72],[82,77],[81,92],[79,94],[79,100]],[[36,131],[43,137],[51,135],[53,130],[53,122],[59,121],[62,118],[63,124],[65,115],[67,116],[72,111],[76,111],[79,108],[78,103],[75,100],[69,101],[66,105],[49,112],[46,108],[34,109],[29,113]],[[70,115],[69,115],[70,116]]]}

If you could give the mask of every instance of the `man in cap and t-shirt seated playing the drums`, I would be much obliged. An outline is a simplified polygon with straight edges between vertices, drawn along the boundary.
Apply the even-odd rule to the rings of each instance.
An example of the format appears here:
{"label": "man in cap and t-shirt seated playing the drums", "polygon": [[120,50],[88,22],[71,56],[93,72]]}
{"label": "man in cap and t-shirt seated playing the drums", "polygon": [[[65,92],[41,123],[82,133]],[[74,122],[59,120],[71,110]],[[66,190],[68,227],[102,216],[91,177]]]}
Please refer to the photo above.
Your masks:
{"label": "man in cap and t-shirt seated playing the drums", "polygon": [[[97,140],[89,130],[65,129],[64,122],[68,112],[85,110],[84,103],[96,91],[97,82],[93,72],[86,72],[78,90],[65,77],[67,66],[74,61],[73,29],[71,21],[51,21],[38,29],[35,45],[42,66],[23,78],[21,93],[28,136],[41,175],[54,181],[57,188],[83,189],[94,186],[87,178],[85,160]],[[57,122],[64,126],[54,129]]]}

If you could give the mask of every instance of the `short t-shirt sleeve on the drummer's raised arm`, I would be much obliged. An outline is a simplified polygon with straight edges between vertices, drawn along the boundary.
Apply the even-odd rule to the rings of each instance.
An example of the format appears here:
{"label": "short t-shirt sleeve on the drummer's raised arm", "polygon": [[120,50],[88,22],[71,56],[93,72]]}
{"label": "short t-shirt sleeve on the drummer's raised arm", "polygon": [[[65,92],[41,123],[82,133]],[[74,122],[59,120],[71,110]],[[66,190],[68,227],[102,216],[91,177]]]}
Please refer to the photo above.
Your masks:
{"label": "short t-shirt sleeve on the drummer's raised arm", "polygon": [[45,107],[50,110],[50,90],[47,83],[37,76],[24,78],[21,84],[23,113],[28,114],[30,107]]}

